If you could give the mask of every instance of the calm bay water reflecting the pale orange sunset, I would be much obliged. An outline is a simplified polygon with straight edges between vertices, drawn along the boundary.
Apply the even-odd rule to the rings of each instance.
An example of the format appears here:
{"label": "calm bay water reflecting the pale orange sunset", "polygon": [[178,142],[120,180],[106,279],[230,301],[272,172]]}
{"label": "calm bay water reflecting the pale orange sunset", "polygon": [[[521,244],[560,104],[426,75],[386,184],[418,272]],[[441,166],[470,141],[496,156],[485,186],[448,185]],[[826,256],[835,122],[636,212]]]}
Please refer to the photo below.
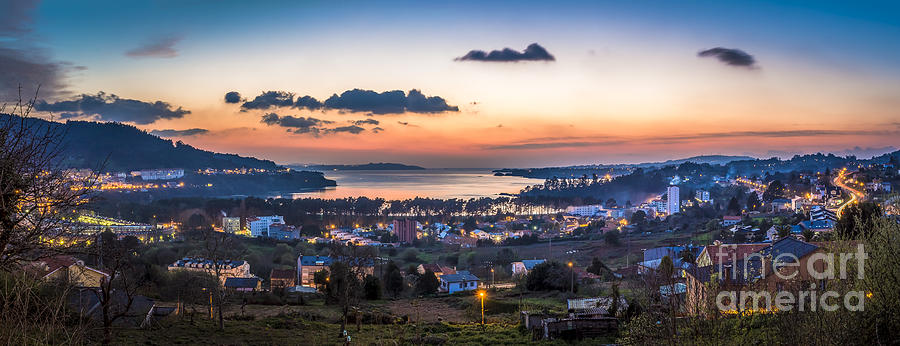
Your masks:
{"label": "calm bay water reflecting the pale orange sunset", "polygon": [[325,177],[337,187],[291,193],[292,198],[414,197],[462,198],[497,197],[517,193],[523,187],[541,184],[541,179],[497,177],[490,169],[427,169],[414,171],[328,171]]}

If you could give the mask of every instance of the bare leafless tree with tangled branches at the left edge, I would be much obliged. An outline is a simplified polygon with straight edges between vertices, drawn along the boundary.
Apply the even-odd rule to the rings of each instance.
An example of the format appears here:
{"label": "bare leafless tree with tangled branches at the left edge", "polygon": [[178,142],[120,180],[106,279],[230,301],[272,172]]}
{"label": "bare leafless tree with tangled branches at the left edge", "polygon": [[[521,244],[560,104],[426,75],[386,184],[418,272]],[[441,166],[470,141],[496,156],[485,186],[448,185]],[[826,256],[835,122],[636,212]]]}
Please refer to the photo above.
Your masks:
{"label": "bare leafless tree with tangled branches at the left edge", "polygon": [[32,117],[35,100],[0,106],[0,268],[73,245],[69,220],[97,181],[61,169],[65,127]]}

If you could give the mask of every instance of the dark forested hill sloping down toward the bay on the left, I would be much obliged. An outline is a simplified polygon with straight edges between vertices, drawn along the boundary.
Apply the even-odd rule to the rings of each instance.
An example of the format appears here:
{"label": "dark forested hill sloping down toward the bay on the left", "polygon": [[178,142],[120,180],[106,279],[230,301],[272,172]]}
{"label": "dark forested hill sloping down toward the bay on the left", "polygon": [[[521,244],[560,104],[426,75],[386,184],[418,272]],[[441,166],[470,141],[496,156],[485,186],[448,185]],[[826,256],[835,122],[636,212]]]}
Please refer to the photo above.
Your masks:
{"label": "dark forested hill sloping down toward the bay on the left", "polygon": [[[0,117],[9,115],[0,114]],[[49,123],[54,128],[63,127],[64,150],[61,159],[63,166],[69,168],[96,169],[101,164],[104,171],[146,168],[195,170],[277,167],[275,162],[269,160],[201,150],[121,123],[93,121],[55,123],[36,118],[29,118],[27,121]]]}

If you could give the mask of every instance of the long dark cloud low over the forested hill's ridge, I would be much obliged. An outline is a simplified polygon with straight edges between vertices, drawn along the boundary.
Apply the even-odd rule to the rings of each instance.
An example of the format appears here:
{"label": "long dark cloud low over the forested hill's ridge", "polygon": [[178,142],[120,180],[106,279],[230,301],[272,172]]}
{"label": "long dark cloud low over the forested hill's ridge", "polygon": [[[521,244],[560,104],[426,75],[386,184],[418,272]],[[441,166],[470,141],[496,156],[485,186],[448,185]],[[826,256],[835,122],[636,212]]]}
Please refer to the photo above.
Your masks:
{"label": "long dark cloud low over the forested hill's ridge", "polygon": [[60,113],[62,118],[96,117],[104,121],[149,124],[159,119],[182,118],[191,111],[163,101],[144,102],[124,99],[116,95],[99,92],[97,95],[82,94],[74,99],[47,103],[39,100],[34,109],[41,112]]}

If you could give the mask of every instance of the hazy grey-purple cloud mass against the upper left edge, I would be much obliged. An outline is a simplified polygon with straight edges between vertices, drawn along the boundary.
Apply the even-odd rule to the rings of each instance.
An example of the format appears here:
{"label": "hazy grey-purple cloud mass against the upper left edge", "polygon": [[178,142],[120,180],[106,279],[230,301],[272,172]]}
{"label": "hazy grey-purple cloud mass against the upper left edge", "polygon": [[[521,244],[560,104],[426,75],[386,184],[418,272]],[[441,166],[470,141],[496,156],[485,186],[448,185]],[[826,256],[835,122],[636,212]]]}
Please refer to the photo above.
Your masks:
{"label": "hazy grey-purple cloud mass against the upper left edge", "polygon": [[71,64],[54,61],[31,37],[33,13],[39,1],[0,2],[0,102],[34,97],[40,86],[40,96],[64,95],[66,72],[78,69]]}

